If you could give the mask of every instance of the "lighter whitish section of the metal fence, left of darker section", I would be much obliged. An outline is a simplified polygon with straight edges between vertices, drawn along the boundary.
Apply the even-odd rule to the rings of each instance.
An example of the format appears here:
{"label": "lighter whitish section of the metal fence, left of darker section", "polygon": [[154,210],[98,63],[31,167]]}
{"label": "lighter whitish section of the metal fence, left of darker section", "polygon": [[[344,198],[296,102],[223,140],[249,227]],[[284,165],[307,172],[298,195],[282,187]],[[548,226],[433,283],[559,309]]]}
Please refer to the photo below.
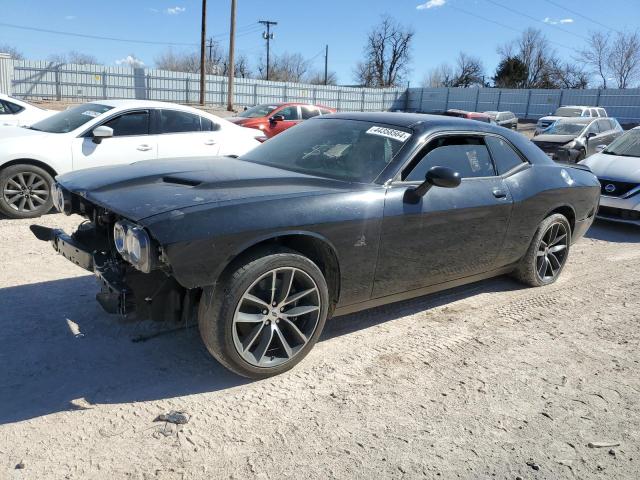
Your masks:
{"label": "lighter whitish section of the metal fence, left of darker section", "polygon": [[[15,61],[13,95],[25,99],[88,101],[113,98],[196,103],[200,76],[165,70]],[[310,102],[338,110],[379,111],[393,108],[405,89],[352,88],[236,78],[234,104]],[[207,75],[206,103],[226,104],[226,77]]]}

